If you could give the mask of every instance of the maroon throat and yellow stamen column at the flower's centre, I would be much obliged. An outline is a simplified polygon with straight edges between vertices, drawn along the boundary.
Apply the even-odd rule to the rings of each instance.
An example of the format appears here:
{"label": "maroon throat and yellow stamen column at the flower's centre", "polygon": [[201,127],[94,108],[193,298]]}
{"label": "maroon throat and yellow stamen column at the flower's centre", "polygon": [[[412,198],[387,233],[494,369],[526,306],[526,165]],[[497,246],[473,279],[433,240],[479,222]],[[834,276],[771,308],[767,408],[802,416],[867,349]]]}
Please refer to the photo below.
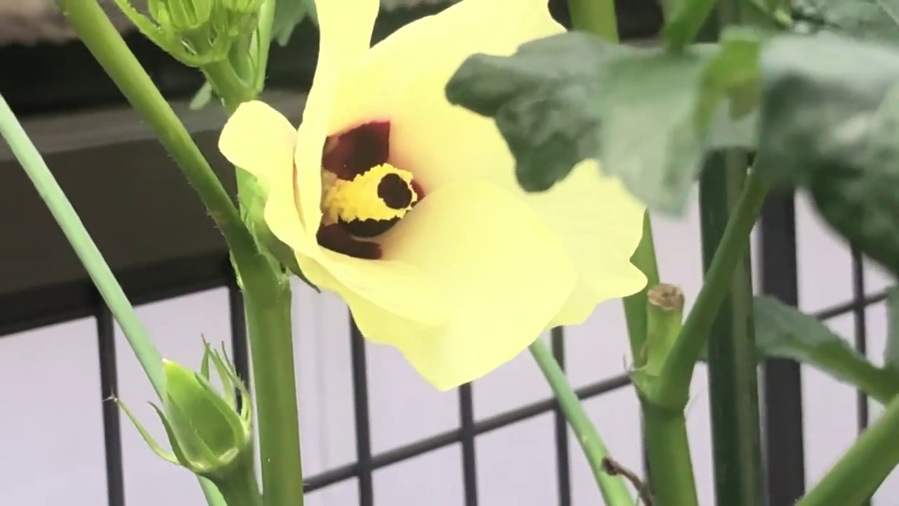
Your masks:
{"label": "maroon throat and yellow stamen column at the flower's centre", "polygon": [[368,122],[325,140],[318,243],[355,258],[381,257],[374,239],[423,198],[413,174],[388,162],[390,122]]}

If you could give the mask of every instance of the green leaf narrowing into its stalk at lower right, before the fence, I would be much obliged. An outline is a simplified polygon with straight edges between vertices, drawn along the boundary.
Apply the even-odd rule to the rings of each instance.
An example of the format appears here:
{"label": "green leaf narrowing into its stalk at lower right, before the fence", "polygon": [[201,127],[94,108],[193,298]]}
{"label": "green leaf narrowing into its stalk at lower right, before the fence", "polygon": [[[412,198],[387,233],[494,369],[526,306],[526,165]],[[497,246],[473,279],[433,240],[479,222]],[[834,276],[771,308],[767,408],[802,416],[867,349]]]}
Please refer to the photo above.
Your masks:
{"label": "green leaf narrowing into its stalk at lower right, before the fence", "polygon": [[878,368],[813,316],[773,297],[755,297],[755,341],[759,360],[791,358],[858,386],[887,402],[899,390],[899,375]]}

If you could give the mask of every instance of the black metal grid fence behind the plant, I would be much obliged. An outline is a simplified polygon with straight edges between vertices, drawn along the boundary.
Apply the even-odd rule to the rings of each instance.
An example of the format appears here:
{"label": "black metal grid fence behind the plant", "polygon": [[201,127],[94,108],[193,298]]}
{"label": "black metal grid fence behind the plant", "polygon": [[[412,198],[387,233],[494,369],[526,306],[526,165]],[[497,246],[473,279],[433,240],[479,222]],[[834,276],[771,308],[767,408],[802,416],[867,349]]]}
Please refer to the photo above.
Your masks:
{"label": "black metal grid fence behind the plant", "polygon": [[[786,303],[797,303],[797,261],[795,216],[792,196],[775,196],[768,204],[761,220],[761,279],[762,290],[779,296]],[[177,272],[178,269],[173,269]],[[853,290],[848,302],[817,312],[816,316],[828,320],[844,314],[852,314],[855,321],[856,348],[864,353],[867,347],[865,308],[885,299],[885,294],[865,294],[865,276],[862,258],[853,248],[852,253]],[[232,332],[233,357],[238,371],[245,377],[249,370],[246,348],[245,321],[241,294],[232,277],[223,273],[219,286],[227,286],[229,294],[229,318]],[[209,288],[209,285],[185,287],[182,293],[191,293]],[[170,294],[151,296],[153,300],[164,300]],[[101,392],[97,400],[102,402],[117,393],[117,365],[114,339],[114,324],[111,313],[96,297],[93,314],[96,319],[97,339],[100,353]],[[146,301],[150,302],[150,301]],[[17,330],[21,330],[21,327]],[[8,330],[0,329],[0,335]],[[476,438],[478,436],[507,427],[521,420],[527,420],[543,413],[555,413],[555,451],[558,483],[558,504],[570,506],[571,475],[568,432],[565,418],[555,399],[547,398],[521,408],[506,411],[485,420],[475,420],[472,402],[472,387],[464,385],[458,389],[458,428],[412,444],[395,447],[375,454],[371,450],[369,429],[369,384],[366,372],[366,357],[363,338],[352,325],[348,336],[351,340],[352,393],[354,397],[354,418],[356,424],[357,459],[349,465],[342,465],[324,473],[307,477],[305,488],[312,492],[344,480],[358,480],[359,505],[374,506],[374,471],[395,465],[407,459],[459,444],[461,451],[462,476],[465,506],[478,504]],[[559,363],[565,366],[565,330],[552,330],[551,345]],[[802,433],[802,402],[799,367],[787,360],[770,360],[763,366],[763,392],[761,399],[764,412],[766,460],[768,465],[768,495],[770,506],[788,506],[802,494],[805,487],[804,451]],[[581,399],[590,399],[604,393],[627,386],[627,375],[616,375],[589,384],[577,390]],[[859,430],[868,425],[868,400],[859,394]],[[106,478],[109,506],[125,505],[125,490],[122,469],[122,447],[120,437],[120,411],[111,402],[102,402],[103,431],[105,438]]]}

